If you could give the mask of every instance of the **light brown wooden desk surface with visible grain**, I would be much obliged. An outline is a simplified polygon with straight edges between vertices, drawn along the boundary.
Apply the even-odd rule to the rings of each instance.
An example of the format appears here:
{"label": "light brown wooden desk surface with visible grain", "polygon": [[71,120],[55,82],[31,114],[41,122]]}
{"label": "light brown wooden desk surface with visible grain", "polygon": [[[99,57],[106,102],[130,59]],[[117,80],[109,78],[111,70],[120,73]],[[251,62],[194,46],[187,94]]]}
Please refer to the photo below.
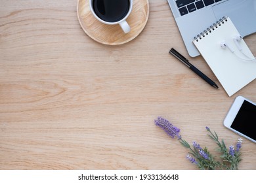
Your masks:
{"label": "light brown wooden desk surface with visible grain", "polygon": [[[236,144],[223,119],[236,96],[256,101],[256,81],[228,97],[202,57],[189,58],[167,1],[151,0],[148,24],[121,46],[88,37],[76,5],[1,0],[0,169],[196,169],[154,125],[158,116],[215,156],[205,126]],[[256,34],[245,42],[256,55]],[[171,47],[219,90],[170,56]],[[244,139],[240,169],[256,169],[255,152]]]}

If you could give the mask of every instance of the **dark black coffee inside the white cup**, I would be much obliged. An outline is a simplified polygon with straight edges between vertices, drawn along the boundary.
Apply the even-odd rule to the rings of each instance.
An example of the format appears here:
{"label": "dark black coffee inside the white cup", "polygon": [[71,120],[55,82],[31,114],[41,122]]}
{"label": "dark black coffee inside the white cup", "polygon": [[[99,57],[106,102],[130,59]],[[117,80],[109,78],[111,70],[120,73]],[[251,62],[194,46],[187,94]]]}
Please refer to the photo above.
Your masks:
{"label": "dark black coffee inside the white cup", "polygon": [[101,20],[118,22],[128,13],[129,0],[93,0],[93,10]]}

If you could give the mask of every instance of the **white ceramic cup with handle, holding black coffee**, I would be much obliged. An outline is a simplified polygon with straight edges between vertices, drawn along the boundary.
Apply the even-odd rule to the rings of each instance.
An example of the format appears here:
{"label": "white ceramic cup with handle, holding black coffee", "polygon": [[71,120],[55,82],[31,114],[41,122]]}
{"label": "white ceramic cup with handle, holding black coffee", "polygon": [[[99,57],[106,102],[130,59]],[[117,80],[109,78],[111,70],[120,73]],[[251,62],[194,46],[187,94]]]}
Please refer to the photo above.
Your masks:
{"label": "white ceramic cup with handle, holding black coffee", "polygon": [[[119,24],[120,27],[123,29],[123,32],[124,33],[129,33],[129,31],[131,31],[131,27],[129,26],[129,24],[126,22],[126,19],[127,17],[129,16],[129,14],[131,14],[131,10],[133,8],[133,0],[127,0],[129,1],[129,10],[128,12],[126,13],[126,15],[121,18],[121,20],[117,20],[116,22],[108,22],[108,21],[105,21],[105,20],[102,20],[95,12],[95,9],[93,8],[93,1],[96,1],[96,0],[90,0],[90,8],[91,8],[91,12],[93,13],[93,15],[95,16],[95,18],[102,22],[103,24],[107,24],[107,25],[116,25],[116,24]],[[105,1],[104,3],[107,4],[108,3],[108,0],[102,0],[102,1]]]}

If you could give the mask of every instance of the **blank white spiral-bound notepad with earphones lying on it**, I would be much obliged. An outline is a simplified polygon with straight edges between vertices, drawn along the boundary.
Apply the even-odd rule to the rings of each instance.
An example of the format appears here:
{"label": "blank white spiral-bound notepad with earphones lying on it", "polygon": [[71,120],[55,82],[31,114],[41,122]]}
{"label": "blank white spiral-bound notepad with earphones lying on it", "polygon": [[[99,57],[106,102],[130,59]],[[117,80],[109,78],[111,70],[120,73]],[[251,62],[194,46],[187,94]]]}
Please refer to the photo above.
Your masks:
{"label": "blank white spiral-bound notepad with earphones lying on it", "polygon": [[[230,18],[223,17],[199,33],[193,41],[229,96],[256,78],[255,57],[244,39],[238,42],[242,48],[240,51],[233,39],[236,35],[240,34]],[[234,52],[222,48],[223,41]]]}

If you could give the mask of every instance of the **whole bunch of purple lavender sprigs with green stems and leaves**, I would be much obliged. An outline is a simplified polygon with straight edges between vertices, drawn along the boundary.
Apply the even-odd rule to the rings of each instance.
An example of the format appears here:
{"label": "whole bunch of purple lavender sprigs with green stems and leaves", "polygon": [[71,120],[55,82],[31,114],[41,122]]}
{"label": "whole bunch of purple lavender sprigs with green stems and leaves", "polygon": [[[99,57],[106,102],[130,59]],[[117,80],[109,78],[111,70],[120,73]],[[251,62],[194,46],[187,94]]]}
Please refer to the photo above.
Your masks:
{"label": "whole bunch of purple lavender sprigs with green stems and leaves", "polygon": [[207,148],[201,148],[200,144],[197,142],[193,142],[193,146],[190,146],[188,142],[181,138],[179,132],[181,131],[178,127],[175,127],[168,120],[162,117],[158,117],[157,120],[154,120],[155,124],[161,127],[169,136],[172,138],[177,137],[181,144],[190,150],[189,154],[186,155],[186,159],[188,159],[191,163],[195,163],[198,169],[230,169],[235,170],[238,169],[238,163],[242,160],[240,155],[240,148],[242,147],[242,139],[238,139],[236,144],[236,150],[234,146],[230,146],[229,149],[226,148],[226,144],[223,139],[219,141],[219,137],[217,133],[212,132],[209,127],[205,127],[205,129],[209,132],[209,137],[216,142],[219,146],[217,149],[218,152],[222,152],[221,162],[217,161],[214,156],[207,150]]}

